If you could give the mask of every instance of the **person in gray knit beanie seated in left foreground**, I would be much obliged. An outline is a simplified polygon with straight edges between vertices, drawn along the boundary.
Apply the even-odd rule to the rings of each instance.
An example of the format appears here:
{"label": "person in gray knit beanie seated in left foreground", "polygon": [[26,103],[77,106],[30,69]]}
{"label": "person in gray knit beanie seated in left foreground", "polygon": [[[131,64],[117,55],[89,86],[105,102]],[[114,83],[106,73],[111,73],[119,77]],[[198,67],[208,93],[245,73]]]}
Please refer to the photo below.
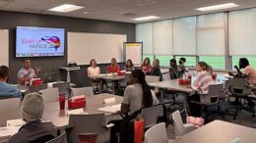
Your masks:
{"label": "person in gray knit beanie seated in left foreground", "polygon": [[52,122],[43,122],[43,99],[39,93],[30,93],[22,103],[22,118],[26,121],[19,131],[11,136],[8,143],[46,142],[54,138]]}

